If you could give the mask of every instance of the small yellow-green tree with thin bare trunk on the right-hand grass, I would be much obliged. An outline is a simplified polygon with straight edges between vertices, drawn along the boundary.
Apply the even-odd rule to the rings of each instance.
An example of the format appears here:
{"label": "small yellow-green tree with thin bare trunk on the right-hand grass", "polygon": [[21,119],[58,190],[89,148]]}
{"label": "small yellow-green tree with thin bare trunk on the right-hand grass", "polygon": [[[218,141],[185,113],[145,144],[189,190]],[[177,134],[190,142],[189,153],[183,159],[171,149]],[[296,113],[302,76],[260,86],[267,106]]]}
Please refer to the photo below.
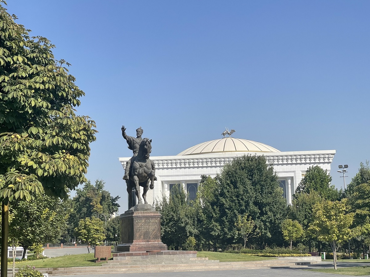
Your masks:
{"label": "small yellow-green tree with thin bare trunk on the right-hand grass", "polygon": [[337,269],[336,252],[341,243],[361,235],[362,229],[352,228],[354,213],[348,213],[347,199],[341,201],[323,201],[313,209],[312,218],[308,228],[312,236],[330,243],[333,250],[334,269]]}

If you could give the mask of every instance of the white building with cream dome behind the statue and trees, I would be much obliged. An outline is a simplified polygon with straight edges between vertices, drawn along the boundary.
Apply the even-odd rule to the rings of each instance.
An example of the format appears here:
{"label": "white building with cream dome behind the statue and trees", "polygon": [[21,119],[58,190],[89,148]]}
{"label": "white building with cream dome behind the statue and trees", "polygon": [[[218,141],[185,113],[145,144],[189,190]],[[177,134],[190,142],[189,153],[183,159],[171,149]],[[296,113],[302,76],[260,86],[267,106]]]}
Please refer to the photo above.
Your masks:
{"label": "white building with cream dome behind the statue and trees", "polygon": [[[182,185],[189,198],[194,199],[201,175],[215,177],[226,163],[245,154],[266,157],[267,162],[273,165],[279,176],[280,187],[283,188],[287,204],[291,204],[292,195],[307,168],[319,165],[330,173],[335,150],[280,152],[256,141],[226,137],[190,147],[176,156],[151,156],[158,180],[155,181],[154,189],[147,192],[147,201],[152,203],[154,199],[162,199],[162,195],[169,196],[175,184]],[[119,158],[124,168],[130,158]]]}

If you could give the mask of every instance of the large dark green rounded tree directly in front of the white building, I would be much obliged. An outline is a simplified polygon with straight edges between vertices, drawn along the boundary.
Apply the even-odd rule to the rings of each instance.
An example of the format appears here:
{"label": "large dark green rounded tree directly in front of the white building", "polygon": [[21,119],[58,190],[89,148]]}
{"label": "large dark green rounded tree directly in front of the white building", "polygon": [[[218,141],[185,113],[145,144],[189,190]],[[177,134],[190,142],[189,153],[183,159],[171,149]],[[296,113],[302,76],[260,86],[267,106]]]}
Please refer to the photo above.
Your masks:
{"label": "large dark green rounded tree directly in front of the white building", "polygon": [[215,206],[219,211],[223,244],[232,244],[240,238],[234,223],[238,215],[244,214],[260,223],[261,235],[255,239],[260,247],[266,243],[282,244],[280,224],[286,218],[286,200],[266,158],[258,155],[237,157],[223,167],[218,180]]}

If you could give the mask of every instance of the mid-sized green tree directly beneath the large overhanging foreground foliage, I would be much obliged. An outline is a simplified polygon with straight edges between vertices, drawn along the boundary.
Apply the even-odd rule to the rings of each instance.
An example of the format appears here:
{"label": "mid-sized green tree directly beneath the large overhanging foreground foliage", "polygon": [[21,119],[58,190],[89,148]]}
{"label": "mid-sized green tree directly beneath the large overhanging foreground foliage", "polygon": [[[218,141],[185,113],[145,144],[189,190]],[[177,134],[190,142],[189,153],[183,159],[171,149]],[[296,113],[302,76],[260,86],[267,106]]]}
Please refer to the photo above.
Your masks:
{"label": "mid-sized green tree directly beneath the large overhanging foreground foliage", "polygon": [[24,248],[57,242],[65,232],[70,207],[59,198],[41,194],[33,201],[10,205],[9,235]]}

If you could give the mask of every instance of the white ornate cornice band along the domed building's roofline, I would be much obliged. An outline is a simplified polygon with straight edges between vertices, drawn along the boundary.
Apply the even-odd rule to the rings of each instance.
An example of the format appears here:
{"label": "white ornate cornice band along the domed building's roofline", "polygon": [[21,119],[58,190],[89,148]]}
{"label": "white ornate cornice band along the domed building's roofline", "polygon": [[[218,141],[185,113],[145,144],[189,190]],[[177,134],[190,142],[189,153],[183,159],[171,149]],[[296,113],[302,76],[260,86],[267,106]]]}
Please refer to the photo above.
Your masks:
{"label": "white ornate cornice band along the domed building's roofline", "polygon": [[[208,158],[189,158],[182,156],[182,158],[174,159],[153,159],[157,169],[159,168],[187,168],[187,167],[223,167],[226,163],[236,157],[208,157]],[[267,163],[272,165],[281,164],[316,164],[316,163],[331,163],[334,154],[292,154],[292,155],[266,155]],[[124,160],[120,160],[123,167],[126,166]]]}

